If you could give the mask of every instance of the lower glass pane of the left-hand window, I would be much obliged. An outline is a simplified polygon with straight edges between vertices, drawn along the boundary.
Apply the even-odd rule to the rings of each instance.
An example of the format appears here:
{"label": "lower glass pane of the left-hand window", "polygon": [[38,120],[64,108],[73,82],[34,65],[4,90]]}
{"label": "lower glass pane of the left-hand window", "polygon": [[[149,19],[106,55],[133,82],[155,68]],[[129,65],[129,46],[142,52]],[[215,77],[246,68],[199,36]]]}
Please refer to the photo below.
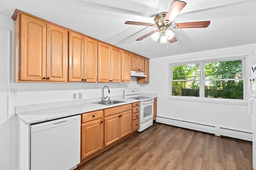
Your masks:
{"label": "lower glass pane of the left-hand window", "polygon": [[172,82],[172,96],[199,97],[199,81]]}

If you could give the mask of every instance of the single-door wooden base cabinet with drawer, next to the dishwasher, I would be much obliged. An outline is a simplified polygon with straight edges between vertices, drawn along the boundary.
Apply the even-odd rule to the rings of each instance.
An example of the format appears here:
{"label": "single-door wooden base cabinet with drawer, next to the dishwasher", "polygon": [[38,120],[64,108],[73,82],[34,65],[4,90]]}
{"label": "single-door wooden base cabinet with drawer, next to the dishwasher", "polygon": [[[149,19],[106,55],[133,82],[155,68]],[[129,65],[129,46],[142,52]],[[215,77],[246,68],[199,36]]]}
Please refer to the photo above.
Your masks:
{"label": "single-door wooden base cabinet with drawer, next to the dishwasher", "polygon": [[103,110],[82,114],[81,160],[103,149]]}

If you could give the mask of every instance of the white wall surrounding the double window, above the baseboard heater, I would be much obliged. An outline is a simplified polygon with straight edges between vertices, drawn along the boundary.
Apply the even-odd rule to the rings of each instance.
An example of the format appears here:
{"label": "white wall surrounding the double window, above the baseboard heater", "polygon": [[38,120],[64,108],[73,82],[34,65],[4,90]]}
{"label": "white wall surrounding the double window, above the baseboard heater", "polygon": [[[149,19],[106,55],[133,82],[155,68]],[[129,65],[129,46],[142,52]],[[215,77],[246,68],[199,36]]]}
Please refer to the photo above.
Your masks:
{"label": "white wall surrounding the double window, above the baseboard heater", "polygon": [[[150,84],[144,86],[142,91],[158,94],[157,115],[160,117],[252,132],[252,120],[248,115],[248,106],[168,100],[167,98],[168,63],[240,56],[244,53],[253,53],[248,57],[249,66],[256,64],[256,44],[150,59]],[[251,72],[250,67],[246,69],[247,72]],[[250,75],[247,74],[247,78],[248,76]],[[249,95],[247,95],[248,98],[250,98]]]}

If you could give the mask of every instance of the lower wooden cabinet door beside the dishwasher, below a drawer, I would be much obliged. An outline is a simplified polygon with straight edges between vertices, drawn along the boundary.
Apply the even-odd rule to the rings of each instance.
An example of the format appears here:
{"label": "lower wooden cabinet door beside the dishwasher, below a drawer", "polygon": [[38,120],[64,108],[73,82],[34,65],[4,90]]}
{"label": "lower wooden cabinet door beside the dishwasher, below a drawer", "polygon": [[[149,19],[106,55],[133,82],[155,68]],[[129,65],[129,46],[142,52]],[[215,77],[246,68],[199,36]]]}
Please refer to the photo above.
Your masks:
{"label": "lower wooden cabinet door beside the dishwasher, below a drawer", "polygon": [[81,126],[81,159],[103,149],[102,119],[89,121]]}

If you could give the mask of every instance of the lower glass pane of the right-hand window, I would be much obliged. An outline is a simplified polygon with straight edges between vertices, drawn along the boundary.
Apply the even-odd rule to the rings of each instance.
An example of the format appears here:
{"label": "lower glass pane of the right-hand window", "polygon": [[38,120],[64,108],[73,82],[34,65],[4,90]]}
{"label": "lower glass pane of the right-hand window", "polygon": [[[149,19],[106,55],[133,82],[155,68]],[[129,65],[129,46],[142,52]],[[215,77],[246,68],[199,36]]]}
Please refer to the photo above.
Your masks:
{"label": "lower glass pane of the right-hand window", "polygon": [[243,80],[205,81],[204,97],[243,99]]}

